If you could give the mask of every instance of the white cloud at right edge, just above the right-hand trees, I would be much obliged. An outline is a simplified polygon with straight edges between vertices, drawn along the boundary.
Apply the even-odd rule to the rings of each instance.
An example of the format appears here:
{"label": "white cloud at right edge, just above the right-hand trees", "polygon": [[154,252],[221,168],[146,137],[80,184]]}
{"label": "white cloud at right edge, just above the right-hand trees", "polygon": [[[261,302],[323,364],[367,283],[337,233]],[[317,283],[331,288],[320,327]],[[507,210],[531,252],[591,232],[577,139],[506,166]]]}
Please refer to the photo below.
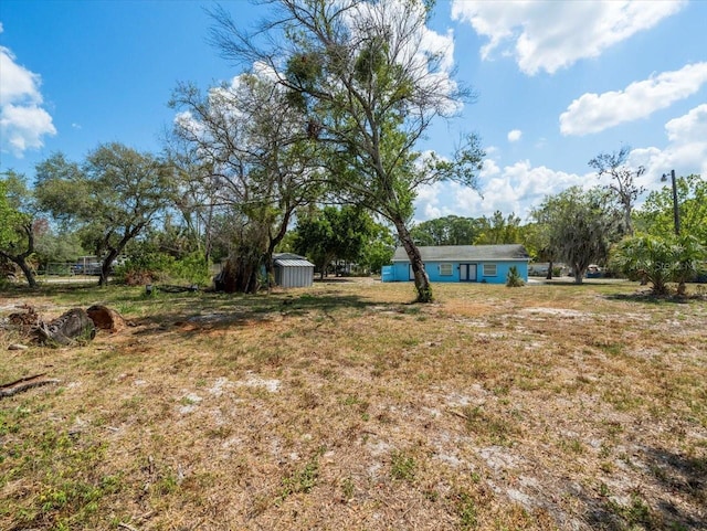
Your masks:
{"label": "white cloud at right edge, just above the right-hand trees", "polygon": [[629,162],[644,166],[641,184],[648,190],[662,187],[663,173],[707,176],[707,104],[665,124],[668,144],[664,149],[647,147],[631,151]]}

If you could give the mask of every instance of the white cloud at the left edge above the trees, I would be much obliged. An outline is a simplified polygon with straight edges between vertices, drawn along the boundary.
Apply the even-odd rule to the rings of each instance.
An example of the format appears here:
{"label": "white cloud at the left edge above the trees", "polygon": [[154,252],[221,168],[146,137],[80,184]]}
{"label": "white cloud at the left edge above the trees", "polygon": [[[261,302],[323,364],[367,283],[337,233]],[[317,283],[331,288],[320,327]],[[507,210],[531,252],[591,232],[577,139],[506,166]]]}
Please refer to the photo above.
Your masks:
{"label": "white cloud at the left edge above the trees", "polygon": [[28,149],[41,148],[44,136],[56,135],[56,128],[42,108],[40,76],[17,64],[4,46],[0,46],[0,150],[20,158]]}

